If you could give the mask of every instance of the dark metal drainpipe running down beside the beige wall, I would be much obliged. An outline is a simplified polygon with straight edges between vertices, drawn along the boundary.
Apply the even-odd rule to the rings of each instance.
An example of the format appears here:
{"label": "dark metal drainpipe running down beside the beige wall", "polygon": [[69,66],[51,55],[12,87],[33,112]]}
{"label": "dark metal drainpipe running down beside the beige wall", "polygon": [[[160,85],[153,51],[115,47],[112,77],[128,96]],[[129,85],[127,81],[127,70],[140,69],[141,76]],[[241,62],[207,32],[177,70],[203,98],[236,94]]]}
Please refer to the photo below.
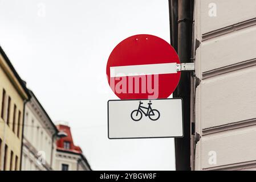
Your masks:
{"label": "dark metal drainpipe running down beside the beige wall", "polygon": [[[169,5],[177,3],[177,47],[176,51],[181,63],[191,62],[191,48],[192,48],[192,23],[193,23],[193,1],[191,0],[169,0]],[[170,7],[172,8],[172,7]],[[173,18],[175,15],[170,15]],[[173,38],[172,38],[173,39]],[[180,82],[177,89],[173,93],[173,97],[183,99],[184,105],[184,137],[175,139],[175,153],[176,153],[176,170],[189,171],[190,168],[190,85],[191,73],[182,72]]]}

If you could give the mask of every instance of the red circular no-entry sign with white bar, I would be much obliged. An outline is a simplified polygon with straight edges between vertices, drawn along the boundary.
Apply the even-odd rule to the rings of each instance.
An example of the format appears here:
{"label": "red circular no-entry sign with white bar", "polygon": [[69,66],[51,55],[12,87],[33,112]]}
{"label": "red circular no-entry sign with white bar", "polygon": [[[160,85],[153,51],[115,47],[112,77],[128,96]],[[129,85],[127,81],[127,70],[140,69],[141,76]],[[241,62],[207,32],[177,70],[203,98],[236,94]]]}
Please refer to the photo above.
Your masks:
{"label": "red circular no-entry sign with white bar", "polygon": [[120,42],[107,63],[108,83],[121,99],[168,98],[176,89],[180,64],[174,48],[153,35],[134,35]]}

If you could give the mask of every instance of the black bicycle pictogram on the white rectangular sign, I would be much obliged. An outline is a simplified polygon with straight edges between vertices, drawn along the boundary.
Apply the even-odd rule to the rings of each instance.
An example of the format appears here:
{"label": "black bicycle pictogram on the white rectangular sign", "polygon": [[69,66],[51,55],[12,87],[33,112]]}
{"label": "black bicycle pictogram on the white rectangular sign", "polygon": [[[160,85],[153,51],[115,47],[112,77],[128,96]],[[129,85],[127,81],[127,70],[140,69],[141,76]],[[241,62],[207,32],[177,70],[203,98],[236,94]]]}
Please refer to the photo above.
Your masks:
{"label": "black bicycle pictogram on the white rectangular sign", "polygon": [[[152,121],[157,121],[157,119],[160,118],[160,112],[156,109],[152,109],[151,101],[148,103],[148,107],[141,106],[143,105],[143,102],[140,101],[139,108],[136,110],[133,110],[131,113],[131,118],[133,121],[140,121],[140,119],[143,117],[143,114],[145,117],[149,117]],[[147,112],[145,112],[143,109],[147,109]]]}

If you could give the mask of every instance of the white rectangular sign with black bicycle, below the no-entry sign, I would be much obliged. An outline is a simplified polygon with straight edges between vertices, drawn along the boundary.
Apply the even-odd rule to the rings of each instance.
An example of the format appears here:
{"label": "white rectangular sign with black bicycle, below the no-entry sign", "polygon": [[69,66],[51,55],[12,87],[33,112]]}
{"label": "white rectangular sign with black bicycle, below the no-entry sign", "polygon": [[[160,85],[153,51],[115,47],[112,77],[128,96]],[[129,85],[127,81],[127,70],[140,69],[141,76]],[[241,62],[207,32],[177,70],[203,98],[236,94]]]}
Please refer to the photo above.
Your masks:
{"label": "white rectangular sign with black bicycle, below the no-entry sign", "polygon": [[108,138],[183,137],[182,99],[108,101]]}

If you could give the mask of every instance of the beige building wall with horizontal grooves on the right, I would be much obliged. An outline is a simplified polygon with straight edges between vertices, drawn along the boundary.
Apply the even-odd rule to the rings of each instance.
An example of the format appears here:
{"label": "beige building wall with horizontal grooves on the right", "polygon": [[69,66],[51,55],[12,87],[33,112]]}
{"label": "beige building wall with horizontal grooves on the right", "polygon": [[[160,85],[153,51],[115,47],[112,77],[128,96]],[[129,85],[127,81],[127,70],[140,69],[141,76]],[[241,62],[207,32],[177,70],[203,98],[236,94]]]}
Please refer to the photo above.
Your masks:
{"label": "beige building wall with horizontal grooves on the right", "polygon": [[196,0],[196,170],[256,169],[256,1]]}

